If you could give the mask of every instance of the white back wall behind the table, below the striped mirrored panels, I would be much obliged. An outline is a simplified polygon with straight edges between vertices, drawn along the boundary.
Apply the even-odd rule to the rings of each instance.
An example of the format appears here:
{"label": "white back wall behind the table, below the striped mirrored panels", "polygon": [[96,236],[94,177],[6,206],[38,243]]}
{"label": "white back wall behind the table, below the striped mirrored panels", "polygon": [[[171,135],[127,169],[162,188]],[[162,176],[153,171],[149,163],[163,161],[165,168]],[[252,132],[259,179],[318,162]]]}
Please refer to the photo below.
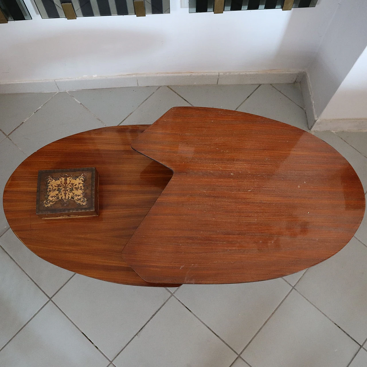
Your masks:
{"label": "white back wall behind the table, below the striped mirrored panels", "polygon": [[[305,70],[338,7],[0,24],[0,83],[130,73]],[[361,1],[361,0],[353,0]],[[364,0],[363,0],[364,1]]]}

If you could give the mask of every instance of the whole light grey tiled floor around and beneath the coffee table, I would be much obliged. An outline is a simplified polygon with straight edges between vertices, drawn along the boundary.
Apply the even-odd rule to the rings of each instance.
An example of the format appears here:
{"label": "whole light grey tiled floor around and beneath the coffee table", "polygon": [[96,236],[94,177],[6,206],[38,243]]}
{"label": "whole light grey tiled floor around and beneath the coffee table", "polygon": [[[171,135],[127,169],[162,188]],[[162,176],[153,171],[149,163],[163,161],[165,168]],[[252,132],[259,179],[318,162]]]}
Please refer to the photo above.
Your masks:
{"label": "whole light grey tiled floor around and beneath the coffee table", "polygon": [[[153,123],[173,106],[307,130],[297,84],[0,95],[0,190],[28,155],[76,132]],[[316,132],[367,190],[367,133]],[[75,275],[28,250],[0,208],[1,367],[366,367],[367,216],[337,255],[258,283],[146,288]]]}

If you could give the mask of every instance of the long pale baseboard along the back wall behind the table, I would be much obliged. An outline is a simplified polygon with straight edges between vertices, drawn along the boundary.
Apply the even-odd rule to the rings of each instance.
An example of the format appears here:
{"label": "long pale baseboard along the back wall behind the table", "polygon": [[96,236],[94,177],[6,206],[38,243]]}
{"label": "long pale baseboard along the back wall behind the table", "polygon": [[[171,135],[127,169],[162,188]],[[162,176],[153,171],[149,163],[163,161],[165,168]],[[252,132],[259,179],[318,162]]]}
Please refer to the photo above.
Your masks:
{"label": "long pale baseboard along the back wall behind the table", "polygon": [[294,83],[299,70],[253,72],[150,73],[0,83],[0,93],[58,92],[82,89],[166,85]]}

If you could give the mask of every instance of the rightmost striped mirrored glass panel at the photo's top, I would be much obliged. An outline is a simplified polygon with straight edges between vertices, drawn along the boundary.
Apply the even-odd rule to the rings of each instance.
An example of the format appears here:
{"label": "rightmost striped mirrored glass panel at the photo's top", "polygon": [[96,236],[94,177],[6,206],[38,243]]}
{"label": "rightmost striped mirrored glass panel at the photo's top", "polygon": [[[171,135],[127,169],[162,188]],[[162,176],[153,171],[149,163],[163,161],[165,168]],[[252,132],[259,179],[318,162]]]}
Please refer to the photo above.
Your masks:
{"label": "rightmost striped mirrored glass panel at the photo's top", "polygon": [[[293,8],[315,7],[317,0],[295,0]],[[224,11],[281,9],[284,0],[225,0]],[[214,10],[214,0],[189,0],[190,13],[203,13]]]}

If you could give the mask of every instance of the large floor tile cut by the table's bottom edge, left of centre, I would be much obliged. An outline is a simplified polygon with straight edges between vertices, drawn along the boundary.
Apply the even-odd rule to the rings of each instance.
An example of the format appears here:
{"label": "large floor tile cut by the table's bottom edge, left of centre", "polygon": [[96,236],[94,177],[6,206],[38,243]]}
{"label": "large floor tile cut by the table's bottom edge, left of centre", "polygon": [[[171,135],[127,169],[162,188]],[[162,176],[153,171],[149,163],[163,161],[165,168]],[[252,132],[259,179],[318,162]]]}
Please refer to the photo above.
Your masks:
{"label": "large floor tile cut by the table's bottom edge, left of centre", "polygon": [[53,300],[112,359],[169,295],[164,288],[124,286],[77,274]]}

